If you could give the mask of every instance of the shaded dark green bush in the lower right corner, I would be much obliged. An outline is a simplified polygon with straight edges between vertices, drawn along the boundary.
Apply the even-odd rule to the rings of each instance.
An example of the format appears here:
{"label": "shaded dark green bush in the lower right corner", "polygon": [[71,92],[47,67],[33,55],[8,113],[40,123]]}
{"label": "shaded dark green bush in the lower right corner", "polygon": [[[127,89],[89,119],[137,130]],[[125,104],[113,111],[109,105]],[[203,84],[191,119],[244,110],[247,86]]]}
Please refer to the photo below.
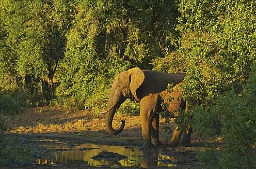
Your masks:
{"label": "shaded dark green bush in the lower right corner", "polygon": [[256,65],[250,74],[241,97],[229,92],[219,99],[216,113],[221,114],[224,152],[220,159],[223,168],[253,168],[256,152]]}

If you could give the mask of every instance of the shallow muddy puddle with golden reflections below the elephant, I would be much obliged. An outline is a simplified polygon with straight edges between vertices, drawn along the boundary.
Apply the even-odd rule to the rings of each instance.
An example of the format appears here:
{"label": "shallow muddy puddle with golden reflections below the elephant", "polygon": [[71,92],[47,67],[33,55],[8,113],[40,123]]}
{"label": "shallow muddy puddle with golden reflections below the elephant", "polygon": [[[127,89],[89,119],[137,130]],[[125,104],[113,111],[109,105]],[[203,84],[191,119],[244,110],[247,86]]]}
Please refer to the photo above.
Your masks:
{"label": "shallow muddy puddle with golden reflections below the elephant", "polygon": [[[112,153],[111,153],[112,152]],[[105,155],[101,155],[105,153]],[[113,156],[113,153],[115,155]],[[95,158],[95,155],[97,158]],[[117,155],[117,156],[116,156]],[[118,158],[118,155],[125,158]],[[173,167],[181,161],[180,156],[170,156],[161,153],[161,150],[141,150],[138,147],[107,146],[96,144],[81,144],[72,150],[56,147],[51,158],[38,158],[38,165],[52,166],[109,166],[109,167]]]}

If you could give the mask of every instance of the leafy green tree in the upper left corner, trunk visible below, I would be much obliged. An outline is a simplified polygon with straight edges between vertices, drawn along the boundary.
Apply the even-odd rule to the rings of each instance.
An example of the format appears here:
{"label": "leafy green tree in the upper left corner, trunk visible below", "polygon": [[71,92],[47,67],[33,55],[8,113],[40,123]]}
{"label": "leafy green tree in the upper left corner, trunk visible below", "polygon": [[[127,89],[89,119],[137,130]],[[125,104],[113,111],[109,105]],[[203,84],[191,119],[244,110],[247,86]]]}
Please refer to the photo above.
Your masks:
{"label": "leafy green tree in the upper left corner, trunk visible below", "polygon": [[[50,99],[53,76],[59,60],[64,57],[65,33],[71,26],[73,1],[8,0],[1,3],[1,48],[10,49],[3,50],[1,55],[4,69],[8,72],[12,69],[12,76],[22,80],[32,93],[40,82],[39,91],[47,93]],[[47,91],[44,91],[44,83],[48,85]]]}

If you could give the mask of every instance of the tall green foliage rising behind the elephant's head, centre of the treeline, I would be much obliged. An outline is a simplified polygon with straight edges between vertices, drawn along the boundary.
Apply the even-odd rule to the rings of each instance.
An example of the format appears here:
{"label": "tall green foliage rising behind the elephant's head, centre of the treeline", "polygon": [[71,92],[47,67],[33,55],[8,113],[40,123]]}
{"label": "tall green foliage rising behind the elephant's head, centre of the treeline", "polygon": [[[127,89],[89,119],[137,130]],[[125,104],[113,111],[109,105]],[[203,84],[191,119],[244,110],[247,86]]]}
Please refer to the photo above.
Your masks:
{"label": "tall green foliage rising behind the elephant's head, centre of the treeline", "polygon": [[150,68],[164,48],[173,48],[175,1],[83,0],[75,8],[58,70],[57,97],[66,102],[76,100],[79,107],[85,102],[86,108],[98,99],[106,102],[119,72]]}

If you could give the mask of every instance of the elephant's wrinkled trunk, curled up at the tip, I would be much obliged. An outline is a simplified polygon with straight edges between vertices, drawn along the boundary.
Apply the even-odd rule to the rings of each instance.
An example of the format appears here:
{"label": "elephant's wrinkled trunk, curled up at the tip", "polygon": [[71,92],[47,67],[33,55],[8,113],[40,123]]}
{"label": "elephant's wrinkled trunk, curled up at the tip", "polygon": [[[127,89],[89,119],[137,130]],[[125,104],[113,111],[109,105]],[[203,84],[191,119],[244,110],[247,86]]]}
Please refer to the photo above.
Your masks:
{"label": "elephant's wrinkled trunk, curled up at the tip", "polygon": [[119,134],[125,127],[125,120],[121,121],[122,125],[118,129],[114,129],[112,127],[114,114],[124,101],[125,101],[125,98],[123,97],[121,92],[112,88],[109,101],[108,101],[107,116],[106,116],[106,129],[110,134],[113,134],[113,135]]}

